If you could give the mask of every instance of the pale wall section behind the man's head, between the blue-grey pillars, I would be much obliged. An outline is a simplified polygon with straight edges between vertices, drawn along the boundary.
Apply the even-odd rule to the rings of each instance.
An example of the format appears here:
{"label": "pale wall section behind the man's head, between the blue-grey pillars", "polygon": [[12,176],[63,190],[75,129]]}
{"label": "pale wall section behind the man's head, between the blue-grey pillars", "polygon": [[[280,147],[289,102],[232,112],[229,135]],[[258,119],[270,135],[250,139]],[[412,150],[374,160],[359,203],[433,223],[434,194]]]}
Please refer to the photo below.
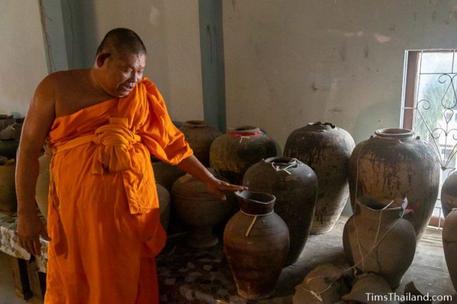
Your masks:
{"label": "pale wall section behind the man's head, between the blue-grey pillars", "polygon": [[159,88],[172,119],[203,118],[198,0],[83,0],[75,10],[84,16],[84,27],[72,29],[79,37],[67,46],[70,53],[84,53],[86,65],[93,65],[106,32],[133,29],[148,50],[145,76]]}

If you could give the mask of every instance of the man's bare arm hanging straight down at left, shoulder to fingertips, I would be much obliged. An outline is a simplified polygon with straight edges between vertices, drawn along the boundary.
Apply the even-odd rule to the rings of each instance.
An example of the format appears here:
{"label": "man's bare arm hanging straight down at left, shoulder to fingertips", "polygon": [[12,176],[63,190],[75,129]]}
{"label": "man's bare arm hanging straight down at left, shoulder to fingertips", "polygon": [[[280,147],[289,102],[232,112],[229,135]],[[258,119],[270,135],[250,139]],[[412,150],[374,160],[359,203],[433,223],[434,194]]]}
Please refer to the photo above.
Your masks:
{"label": "man's bare arm hanging straight down at left, shoulder to fingertips", "polygon": [[35,186],[39,174],[39,153],[55,117],[53,86],[45,79],[38,86],[25,117],[16,156],[19,244],[39,256],[39,235],[47,237],[37,214]]}

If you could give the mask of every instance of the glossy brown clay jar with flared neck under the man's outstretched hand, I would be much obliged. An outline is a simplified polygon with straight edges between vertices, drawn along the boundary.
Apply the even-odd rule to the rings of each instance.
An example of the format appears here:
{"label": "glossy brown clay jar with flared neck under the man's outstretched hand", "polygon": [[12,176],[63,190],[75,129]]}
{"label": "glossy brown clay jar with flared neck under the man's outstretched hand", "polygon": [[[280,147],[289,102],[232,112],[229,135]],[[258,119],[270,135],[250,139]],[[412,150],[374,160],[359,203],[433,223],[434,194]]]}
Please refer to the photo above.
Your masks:
{"label": "glossy brown clay jar with flared neck under the man's outstretched hand", "polygon": [[273,294],[289,249],[289,231],[273,212],[269,193],[235,192],[241,210],[228,220],[224,251],[238,295],[250,300]]}

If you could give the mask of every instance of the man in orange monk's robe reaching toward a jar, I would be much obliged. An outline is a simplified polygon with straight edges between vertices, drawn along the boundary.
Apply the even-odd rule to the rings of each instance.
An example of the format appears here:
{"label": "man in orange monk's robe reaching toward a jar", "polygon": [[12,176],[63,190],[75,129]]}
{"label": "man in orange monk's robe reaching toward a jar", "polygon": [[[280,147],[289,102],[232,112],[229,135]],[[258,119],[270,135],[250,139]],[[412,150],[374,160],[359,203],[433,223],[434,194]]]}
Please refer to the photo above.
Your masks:
{"label": "man in orange monk's robe reaching toward a jar", "polygon": [[[165,244],[150,153],[202,180],[221,199],[243,190],[214,178],[143,78],[146,47],[129,29],[106,34],[94,67],[56,72],[37,87],[18,149],[20,246],[49,240],[46,304],[158,303],[155,256]],[[52,150],[47,230],[34,189]]]}

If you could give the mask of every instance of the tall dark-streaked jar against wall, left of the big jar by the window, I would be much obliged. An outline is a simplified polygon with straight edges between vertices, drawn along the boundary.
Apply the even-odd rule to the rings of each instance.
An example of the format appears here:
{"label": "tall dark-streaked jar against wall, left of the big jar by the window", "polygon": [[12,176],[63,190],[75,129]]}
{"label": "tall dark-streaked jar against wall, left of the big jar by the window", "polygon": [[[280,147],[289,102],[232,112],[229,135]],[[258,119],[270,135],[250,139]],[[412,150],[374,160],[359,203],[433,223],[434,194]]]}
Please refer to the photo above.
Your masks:
{"label": "tall dark-streaked jar against wall, left of the big jar by the window", "polygon": [[355,143],[334,124],[316,122],[290,133],[284,155],[310,166],[318,178],[318,199],[311,234],[329,232],[349,197],[347,165]]}

